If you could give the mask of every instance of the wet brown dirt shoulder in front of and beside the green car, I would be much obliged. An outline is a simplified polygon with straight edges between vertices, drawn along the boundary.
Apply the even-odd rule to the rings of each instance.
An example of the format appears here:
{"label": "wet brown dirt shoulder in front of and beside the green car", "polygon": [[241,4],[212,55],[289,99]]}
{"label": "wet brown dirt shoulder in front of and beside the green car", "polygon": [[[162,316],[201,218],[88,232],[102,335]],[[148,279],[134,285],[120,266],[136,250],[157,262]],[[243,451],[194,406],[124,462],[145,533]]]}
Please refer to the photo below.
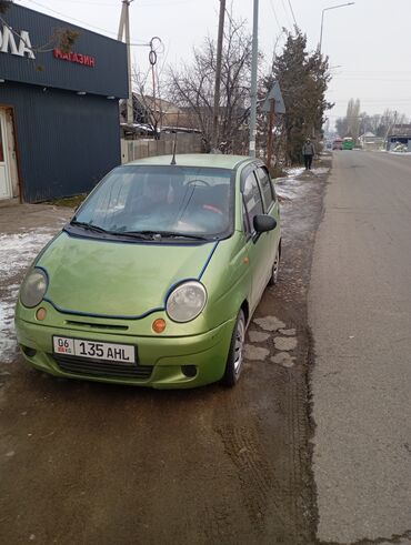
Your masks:
{"label": "wet brown dirt shoulder in front of and beside the green car", "polygon": [[[0,362],[0,543],[314,543],[307,290],[330,163],[317,166],[279,182],[280,280],[235,388],[108,386]],[[68,213],[13,209],[0,233]]]}

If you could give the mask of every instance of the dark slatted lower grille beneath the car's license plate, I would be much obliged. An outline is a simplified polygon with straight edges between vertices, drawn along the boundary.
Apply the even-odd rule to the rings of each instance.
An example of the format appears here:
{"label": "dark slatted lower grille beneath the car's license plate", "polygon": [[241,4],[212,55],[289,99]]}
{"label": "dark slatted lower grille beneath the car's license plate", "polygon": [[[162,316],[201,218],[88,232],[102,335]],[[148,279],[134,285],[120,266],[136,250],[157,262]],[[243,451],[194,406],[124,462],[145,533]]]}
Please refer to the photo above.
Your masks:
{"label": "dark slatted lower grille beneath the car's license plate", "polygon": [[61,354],[53,354],[53,359],[61,371],[64,371],[64,373],[76,373],[77,375],[144,380],[150,377],[153,369],[152,365],[138,365],[136,363],[120,363]]}

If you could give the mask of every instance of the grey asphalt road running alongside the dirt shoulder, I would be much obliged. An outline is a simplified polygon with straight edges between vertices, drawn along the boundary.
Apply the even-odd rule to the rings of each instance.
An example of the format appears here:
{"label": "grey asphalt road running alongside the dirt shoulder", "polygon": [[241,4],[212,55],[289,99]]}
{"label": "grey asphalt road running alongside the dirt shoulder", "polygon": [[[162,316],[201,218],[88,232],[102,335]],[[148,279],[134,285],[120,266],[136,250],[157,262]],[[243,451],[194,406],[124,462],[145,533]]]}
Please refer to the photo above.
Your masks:
{"label": "grey asphalt road running alongside the dirt shoulder", "polygon": [[309,294],[318,538],[411,543],[411,157],[335,152]]}

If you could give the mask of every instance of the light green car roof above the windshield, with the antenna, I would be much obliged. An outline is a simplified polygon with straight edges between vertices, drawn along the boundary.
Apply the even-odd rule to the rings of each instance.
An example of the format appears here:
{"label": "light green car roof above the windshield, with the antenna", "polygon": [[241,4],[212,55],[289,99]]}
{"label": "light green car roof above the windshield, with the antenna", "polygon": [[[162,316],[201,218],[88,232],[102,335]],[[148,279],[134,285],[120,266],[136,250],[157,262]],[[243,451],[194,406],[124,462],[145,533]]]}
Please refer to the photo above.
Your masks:
{"label": "light green car roof above the windshield, with the antenna", "polygon": [[[172,155],[157,155],[146,159],[139,159],[127,163],[128,165],[152,164],[167,165],[171,164]],[[255,161],[254,158],[247,155],[224,155],[222,153],[181,153],[176,154],[177,166],[207,166],[217,169],[235,169],[241,163]]]}

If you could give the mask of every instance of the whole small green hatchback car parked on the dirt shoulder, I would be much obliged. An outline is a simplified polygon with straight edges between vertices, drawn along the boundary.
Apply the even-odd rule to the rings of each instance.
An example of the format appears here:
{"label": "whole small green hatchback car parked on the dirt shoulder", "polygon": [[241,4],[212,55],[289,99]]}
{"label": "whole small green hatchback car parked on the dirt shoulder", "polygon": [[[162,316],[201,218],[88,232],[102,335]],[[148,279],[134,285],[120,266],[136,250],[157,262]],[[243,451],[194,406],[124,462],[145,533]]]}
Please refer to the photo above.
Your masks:
{"label": "whole small green hatchback car parked on the dirt shoulder", "polygon": [[21,284],[26,360],[107,383],[233,386],[247,325],[277,282],[279,214],[252,158],[164,155],[113,169]]}

